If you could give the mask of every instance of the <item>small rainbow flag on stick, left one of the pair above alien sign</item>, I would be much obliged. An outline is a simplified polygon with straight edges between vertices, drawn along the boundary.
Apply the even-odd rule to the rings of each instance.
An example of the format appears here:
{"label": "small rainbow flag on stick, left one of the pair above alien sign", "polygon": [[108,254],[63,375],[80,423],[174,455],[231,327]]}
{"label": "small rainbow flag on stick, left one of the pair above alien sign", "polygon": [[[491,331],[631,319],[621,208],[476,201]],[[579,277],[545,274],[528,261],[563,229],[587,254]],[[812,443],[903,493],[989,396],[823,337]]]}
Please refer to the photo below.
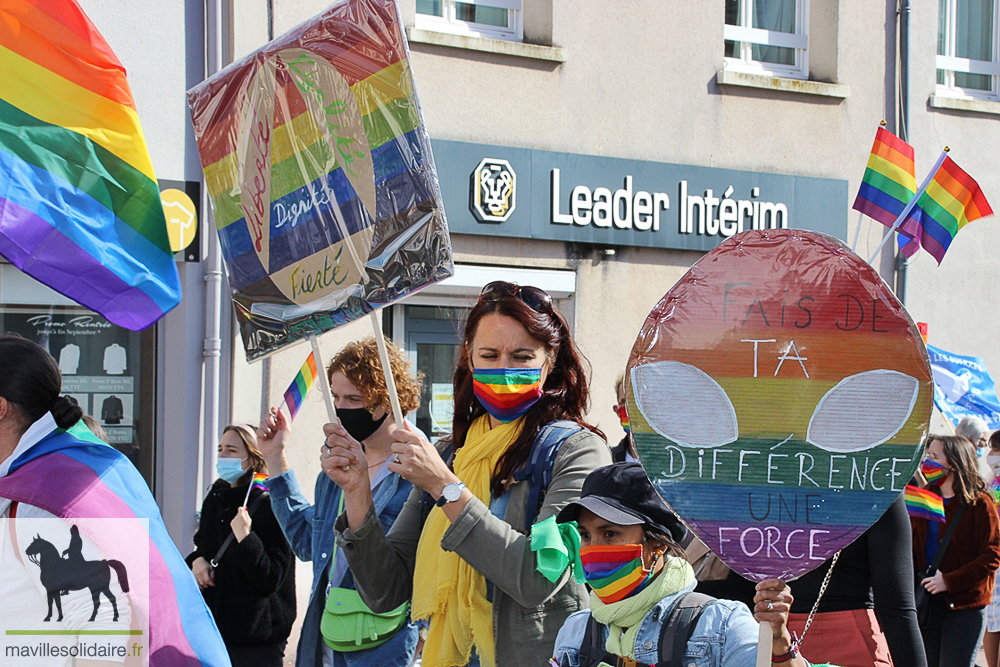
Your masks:
{"label": "small rainbow flag on stick, left one of the pair above alien sign", "polygon": [[892,227],[916,191],[913,147],[878,128],[854,209]]}

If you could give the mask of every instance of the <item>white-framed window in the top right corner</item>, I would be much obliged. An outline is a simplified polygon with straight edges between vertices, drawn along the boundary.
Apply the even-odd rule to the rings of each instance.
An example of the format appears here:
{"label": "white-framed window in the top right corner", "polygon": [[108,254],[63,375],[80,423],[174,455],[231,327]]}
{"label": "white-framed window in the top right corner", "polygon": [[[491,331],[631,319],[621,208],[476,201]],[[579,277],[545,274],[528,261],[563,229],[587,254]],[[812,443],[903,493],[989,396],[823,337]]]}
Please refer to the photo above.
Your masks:
{"label": "white-framed window in the top right corner", "polygon": [[997,0],[939,0],[938,90],[1000,99]]}

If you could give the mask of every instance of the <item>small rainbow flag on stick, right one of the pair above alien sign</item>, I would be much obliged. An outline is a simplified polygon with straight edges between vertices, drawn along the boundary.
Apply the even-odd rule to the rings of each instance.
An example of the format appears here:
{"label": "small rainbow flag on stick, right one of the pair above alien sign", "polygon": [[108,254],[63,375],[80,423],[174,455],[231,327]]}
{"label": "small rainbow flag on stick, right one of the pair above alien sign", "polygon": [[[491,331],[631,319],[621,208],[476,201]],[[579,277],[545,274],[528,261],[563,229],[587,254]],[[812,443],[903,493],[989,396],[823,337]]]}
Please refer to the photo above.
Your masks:
{"label": "small rainbow flag on stick, right one of the pair above alien sign", "polygon": [[993,215],[993,209],[979,184],[945,157],[899,226],[902,234],[913,239],[902,246],[902,252],[910,257],[923,247],[940,264],[959,230],[988,215]]}

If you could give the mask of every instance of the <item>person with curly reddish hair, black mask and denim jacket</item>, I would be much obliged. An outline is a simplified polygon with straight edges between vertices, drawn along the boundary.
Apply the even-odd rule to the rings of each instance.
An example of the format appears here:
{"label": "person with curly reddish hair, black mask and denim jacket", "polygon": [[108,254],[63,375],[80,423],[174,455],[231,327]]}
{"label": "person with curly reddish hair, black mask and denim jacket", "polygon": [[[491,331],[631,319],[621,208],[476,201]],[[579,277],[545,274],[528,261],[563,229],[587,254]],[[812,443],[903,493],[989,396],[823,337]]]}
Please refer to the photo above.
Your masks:
{"label": "person with curly reddish hair, black mask and denim jacket", "polygon": [[[402,350],[391,342],[386,345],[400,407],[403,414],[412,412],[420,403],[420,379],[411,372],[410,361]],[[355,442],[364,443],[367,457],[365,490],[372,499],[376,520],[388,530],[411,489],[410,482],[400,477],[397,470],[391,469],[390,447],[395,433],[412,427],[408,423],[397,424],[392,416],[374,337],[348,344],[334,356],[326,372],[340,420],[338,428],[349,433]],[[409,664],[417,646],[418,629],[408,619],[377,646],[346,651],[334,650],[329,645],[335,642],[324,637],[321,628],[327,597],[334,588],[355,588],[345,550],[334,545],[333,524],[343,507],[341,490],[334,481],[341,470],[327,455],[329,448],[324,442],[320,452],[322,472],[316,480],[315,502],[309,504],[285,457],[290,428],[284,413],[271,408],[257,433],[260,450],[271,475],[266,486],[271,493],[274,515],[295,555],[313,563],[312,592],[299,636],[296,665],[404,667]]]}

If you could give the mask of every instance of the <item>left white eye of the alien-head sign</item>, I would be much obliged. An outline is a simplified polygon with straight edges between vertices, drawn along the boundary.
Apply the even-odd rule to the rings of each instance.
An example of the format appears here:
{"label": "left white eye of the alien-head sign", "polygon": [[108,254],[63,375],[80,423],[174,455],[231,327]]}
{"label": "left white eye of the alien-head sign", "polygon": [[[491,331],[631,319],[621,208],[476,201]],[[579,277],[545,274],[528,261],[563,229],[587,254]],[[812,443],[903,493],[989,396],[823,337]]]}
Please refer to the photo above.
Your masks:
{"label": "left white eye of the alien-head sign", "polygon": [[632,369],[639,412],[653,430],[684,447],[719,447],[739,435],[736,410],[707,373],[679,361]]}

